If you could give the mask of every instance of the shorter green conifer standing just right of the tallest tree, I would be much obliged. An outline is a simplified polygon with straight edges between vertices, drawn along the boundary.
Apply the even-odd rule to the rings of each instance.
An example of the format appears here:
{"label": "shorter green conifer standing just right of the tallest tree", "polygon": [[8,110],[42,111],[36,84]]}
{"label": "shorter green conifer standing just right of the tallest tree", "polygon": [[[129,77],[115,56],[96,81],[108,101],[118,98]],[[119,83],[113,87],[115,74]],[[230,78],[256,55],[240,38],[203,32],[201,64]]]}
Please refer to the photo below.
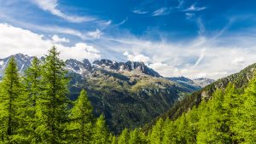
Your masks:
{"label": "shorter green conifer standing just right of the tallest tree", "polygon": [[83,89],[71,110],[69,130],[71,130],[71,140],[73,143],[89,143],[93,128],[93,108],[88,100],[87,93]]}

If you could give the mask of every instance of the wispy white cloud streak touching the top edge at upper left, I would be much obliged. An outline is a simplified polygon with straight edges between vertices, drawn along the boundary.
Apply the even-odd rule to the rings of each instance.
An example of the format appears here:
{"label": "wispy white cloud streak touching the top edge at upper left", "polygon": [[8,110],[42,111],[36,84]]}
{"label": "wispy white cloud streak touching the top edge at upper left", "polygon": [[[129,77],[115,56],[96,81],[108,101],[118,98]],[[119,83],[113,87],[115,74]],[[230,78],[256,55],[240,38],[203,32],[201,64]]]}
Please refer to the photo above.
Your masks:
{"label": "wispy white cloud streak touching the top edge at upper left", "polygon": [[45,11],[49,11],[51,14],[61,17],[64,20],[68,20],[70,22],[80,23],[85,21],[95,20],[95,18],[88,16],[75,16],[64,14],[60,9],[58,9],[58,0],[33,0],[33,3],[36,3],[40,9]]}

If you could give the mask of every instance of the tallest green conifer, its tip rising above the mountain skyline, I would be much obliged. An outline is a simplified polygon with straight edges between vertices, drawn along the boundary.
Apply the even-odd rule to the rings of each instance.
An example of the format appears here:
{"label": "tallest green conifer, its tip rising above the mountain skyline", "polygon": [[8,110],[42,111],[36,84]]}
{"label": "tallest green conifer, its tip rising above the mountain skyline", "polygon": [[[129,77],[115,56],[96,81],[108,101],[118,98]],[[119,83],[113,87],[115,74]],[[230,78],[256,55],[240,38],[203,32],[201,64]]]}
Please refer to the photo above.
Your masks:
{"label": "tallest green conifer, its tip rising above the mountain skyline", "polygon": [[38,128],[36,132],[44,143],[64,143],[68,121],[67,72],[65,63],[59,59],[55,46],[46,55],[42,84],[43,93],[38,99]]}

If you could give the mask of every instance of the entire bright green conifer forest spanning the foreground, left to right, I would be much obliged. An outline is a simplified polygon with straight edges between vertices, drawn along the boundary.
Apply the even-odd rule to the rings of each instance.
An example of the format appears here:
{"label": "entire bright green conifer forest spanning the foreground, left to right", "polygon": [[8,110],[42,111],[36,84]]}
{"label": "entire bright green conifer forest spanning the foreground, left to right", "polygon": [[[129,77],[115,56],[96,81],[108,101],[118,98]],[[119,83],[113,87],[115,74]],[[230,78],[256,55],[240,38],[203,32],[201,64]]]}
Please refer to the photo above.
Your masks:
{"label": "entire bright green conifer forest spanning the foreground, left to right", "polygon": [[231,83],[217,89],[175,120],[159,118],[149,130],[113,135],[104,116],[94,116],[85,90],[69,99],[70,78],[59,55],[53,47],[22,76],[9,60],[0,83],[0,143],[256,143],[256,78],[242,89]]}

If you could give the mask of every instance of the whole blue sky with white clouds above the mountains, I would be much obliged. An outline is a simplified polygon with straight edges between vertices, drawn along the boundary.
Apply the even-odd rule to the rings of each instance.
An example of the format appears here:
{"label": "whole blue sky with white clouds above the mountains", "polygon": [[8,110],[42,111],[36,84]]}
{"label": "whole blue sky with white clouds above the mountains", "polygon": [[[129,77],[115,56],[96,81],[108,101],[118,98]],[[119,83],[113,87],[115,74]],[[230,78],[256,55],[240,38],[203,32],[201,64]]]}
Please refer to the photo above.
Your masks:
{"label": "whole blue sky with white clouds above the mountains", "polygon": [[223,78],[256,62],[254,0],[0,0],[0,58],[143,61],[164,77]]}

